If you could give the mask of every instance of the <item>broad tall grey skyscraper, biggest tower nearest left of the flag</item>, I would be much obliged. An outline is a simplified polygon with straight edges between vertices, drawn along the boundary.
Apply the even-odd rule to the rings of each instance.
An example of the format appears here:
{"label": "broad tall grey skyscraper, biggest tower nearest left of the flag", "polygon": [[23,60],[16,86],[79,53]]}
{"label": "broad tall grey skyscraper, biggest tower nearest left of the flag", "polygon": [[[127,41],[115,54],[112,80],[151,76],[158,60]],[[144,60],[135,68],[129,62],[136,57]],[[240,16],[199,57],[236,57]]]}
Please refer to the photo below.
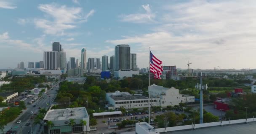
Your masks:
{"label": "broad tall grey skyscraper, biggest tower nearest left of the flag", "polygon": [[115,46],[115,70],[131,70],[131,48],[129,45]]}

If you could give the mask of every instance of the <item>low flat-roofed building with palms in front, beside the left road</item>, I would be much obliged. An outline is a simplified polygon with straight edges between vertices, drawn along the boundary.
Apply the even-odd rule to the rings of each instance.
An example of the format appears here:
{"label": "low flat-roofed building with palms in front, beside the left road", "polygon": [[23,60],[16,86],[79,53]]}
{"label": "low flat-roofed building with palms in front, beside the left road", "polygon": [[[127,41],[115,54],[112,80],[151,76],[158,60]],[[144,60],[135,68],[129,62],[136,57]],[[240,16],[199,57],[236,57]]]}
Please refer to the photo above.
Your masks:
{"label": "low flat-roofed building with palms in front, beside the left road", "polygon": [[[69,125],[70,119],[74,119],[74,126]],[[86,125],[80,124],[81,120],[86,121]],[[52,121],[54,126],[49,128],[46,125],[47,121]],[[80,134],[90,130],[89,124],[89,116],[85,107],[49,110],[43,119],[44,134],[71,134],[71,132]]]}

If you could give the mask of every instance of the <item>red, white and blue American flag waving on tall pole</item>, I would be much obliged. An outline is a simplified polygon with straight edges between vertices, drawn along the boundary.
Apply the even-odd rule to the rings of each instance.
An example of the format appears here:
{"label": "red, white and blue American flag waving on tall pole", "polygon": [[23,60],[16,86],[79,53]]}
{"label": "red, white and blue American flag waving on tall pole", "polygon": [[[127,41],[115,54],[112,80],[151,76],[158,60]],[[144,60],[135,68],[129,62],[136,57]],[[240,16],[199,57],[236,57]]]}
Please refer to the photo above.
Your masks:
{"label": "red, white and blue American flag waving on tall pole", "polygon": [[155,74],[154,78],[155,79],[161,79],[161,75],[163,72],[163,66],[162,66],[162,61],[157,59],[152,52],[150,51],[150,72]]}

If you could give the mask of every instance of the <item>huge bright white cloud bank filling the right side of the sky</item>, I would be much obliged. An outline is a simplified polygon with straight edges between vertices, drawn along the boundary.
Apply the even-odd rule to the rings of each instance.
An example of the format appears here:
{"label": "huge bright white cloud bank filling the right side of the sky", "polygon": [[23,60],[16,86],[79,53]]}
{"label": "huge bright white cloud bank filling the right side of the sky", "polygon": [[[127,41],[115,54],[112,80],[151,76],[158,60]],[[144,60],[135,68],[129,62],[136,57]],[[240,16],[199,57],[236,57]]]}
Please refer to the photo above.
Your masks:
{"label": "huge bright white cloud bank filling the right side of the sky", "polygon": [[[165,65],[187,68],[255,68],[256,1],[195,0],[163,7],[162,25],[152,32],[122,39],[112,44],[130,44],[138,54],[138,64],[147,67],[148,50]],[[144,8],[145,10],[147,9]],[[150,10],[148,10],[150,11]],[[135,48],[136,49],[133,49]]]}

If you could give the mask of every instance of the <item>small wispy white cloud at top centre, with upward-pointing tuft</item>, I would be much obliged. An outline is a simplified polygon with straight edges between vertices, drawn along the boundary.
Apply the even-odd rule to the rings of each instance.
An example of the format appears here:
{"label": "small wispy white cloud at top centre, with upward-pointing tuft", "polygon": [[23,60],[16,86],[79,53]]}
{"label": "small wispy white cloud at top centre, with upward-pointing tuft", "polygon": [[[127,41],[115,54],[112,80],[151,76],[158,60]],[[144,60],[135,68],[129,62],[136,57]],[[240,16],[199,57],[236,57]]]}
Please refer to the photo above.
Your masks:
{"label": "small wispy white cloud at top centre, with upward-pointing tuft", "polygon": [[151,13],[151,9],[149,4],[141,5],[142,8],[146,11],[146,13],[136,13],[136,14],[128,14],[128,15],[120,15],[121,21],[131,22],[131,23],[152,23],[155,22],[155,13]]}

